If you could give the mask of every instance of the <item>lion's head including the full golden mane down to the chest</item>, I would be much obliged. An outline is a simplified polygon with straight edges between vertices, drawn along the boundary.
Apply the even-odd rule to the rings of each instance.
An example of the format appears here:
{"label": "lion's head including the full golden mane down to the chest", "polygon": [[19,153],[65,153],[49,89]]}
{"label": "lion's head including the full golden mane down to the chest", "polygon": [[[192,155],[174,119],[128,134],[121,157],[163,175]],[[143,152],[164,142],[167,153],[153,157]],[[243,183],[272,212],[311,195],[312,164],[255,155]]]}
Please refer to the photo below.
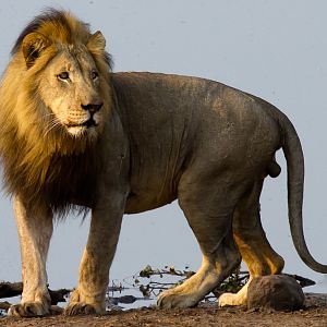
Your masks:
{"label": "lion's head including the full golden mane down to the chest", "polygon": [[[57,10],[37,16],[17,38],[0,86],[0,155],[10,193],[29,201],[60,193],[57,203],[64,205],[64,175],[96,169],[92,152],[111,108],[105,46],[100,32]],[[85,180],[81,185],[72,177],[72,186],[87,187]]]}

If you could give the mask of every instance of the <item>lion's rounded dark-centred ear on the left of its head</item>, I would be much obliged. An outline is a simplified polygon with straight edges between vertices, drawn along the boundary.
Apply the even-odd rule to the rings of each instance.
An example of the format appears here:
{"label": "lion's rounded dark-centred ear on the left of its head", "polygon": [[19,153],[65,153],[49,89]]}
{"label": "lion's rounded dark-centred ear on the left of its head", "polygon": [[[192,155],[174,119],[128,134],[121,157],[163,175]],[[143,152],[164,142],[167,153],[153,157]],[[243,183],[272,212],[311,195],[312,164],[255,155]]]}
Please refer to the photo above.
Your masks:
{"label": "lion's rounded dark-centred ear on the left of its head", "polygon": [[31,68],[40,53],[50,45],[50,41],[39,33],[27,34],[22,43],[22,51],[27,68]]}

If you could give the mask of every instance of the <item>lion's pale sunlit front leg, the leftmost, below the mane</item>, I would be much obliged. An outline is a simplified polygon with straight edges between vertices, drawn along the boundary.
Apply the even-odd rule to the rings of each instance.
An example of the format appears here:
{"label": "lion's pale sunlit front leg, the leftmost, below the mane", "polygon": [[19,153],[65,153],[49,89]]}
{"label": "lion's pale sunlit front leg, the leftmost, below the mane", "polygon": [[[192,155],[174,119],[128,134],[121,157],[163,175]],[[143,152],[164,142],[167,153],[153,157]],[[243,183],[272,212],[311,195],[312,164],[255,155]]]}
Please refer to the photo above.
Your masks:
{"label": "lion's pale sunlit front leg, the leftmost, below the mane", "polygon": [[46,259],[52,234],[52,214],[49,208],[33,208],[19,196],[13,202],[19,231],[23,294],[20,304],[12,305],[9,315],[44,316],[50,313]]}

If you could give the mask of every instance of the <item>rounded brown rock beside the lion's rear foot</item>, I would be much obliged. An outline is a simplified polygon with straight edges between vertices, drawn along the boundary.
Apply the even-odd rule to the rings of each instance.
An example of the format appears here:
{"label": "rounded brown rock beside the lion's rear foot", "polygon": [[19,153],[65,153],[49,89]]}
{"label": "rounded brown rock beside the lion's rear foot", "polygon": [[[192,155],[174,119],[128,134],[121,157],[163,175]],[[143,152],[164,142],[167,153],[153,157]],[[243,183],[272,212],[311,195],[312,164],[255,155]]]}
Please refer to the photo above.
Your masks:
{"label": "rounded brown rock beside the lion's rear foot", "polygon": [[247,289],[247,310],[295,311],[303,307],[304,300],[300,284],[286,275],[256,277]]}

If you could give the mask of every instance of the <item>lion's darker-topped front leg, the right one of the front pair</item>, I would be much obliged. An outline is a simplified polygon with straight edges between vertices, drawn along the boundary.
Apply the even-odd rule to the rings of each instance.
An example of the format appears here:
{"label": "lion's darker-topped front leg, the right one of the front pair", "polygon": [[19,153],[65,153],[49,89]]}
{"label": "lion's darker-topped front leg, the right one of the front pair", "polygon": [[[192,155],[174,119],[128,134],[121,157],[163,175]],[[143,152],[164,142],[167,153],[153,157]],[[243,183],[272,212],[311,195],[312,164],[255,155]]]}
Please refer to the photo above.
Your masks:
{"label": "lion's darker-topped front leg, the right one of the front pair", "polygon": [[88,240],[80,266],[78,286],[71,294],[64,312],[66,315],[105,313],[109,268],[119,239],[122,215],[122,206],[117,208],[107,205],[93,210]]}

